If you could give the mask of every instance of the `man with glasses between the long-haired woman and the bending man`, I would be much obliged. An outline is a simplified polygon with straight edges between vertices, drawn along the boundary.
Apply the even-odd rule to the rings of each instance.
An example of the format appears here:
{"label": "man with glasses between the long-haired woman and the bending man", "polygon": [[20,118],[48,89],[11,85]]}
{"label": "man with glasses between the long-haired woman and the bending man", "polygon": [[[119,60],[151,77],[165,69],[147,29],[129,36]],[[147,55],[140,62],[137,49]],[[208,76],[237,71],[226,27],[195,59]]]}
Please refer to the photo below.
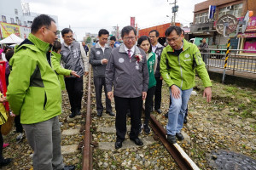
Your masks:
{"label": "man with glasses between the long-haired woman and the bending man", "polygon": [[162,113],[160,110],[161,99],[162,99],[162,77],[160,75],[160,57],[163,51],[164,46],[158,42],[159,31],[152,30],[149,32],[149,38],[152,44],[152,51],[157,54],[157,67],[154,72],[154,77],[156,80],[155,92],[154,92],[154,111],[157,111],[159,114]]}

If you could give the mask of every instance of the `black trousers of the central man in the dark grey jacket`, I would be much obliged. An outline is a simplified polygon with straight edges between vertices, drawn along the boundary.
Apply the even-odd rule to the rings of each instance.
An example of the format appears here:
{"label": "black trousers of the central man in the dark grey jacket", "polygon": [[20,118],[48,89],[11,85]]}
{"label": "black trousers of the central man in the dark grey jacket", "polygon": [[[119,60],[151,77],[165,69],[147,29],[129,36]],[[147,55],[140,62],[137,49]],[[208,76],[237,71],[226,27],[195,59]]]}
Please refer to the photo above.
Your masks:
{"label": "black trousers of the central man in the dark grey jacket", "polygon": [[143,98],[120,98],[114,96],[116,118],[115,128],[117,141],[125,140],[126,133],[126,114],[127,110],[131,111],[131,132],[130,139],[136,139],[139,135],[139,127],[141,126],[141,118],[143,111]]}

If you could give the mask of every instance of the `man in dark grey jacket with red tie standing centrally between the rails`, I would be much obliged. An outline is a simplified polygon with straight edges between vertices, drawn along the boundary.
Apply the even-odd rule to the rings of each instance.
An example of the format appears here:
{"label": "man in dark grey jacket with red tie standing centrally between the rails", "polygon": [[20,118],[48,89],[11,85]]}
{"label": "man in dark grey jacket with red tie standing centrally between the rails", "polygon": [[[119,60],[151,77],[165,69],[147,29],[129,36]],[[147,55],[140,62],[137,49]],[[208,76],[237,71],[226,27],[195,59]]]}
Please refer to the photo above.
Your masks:
{"label": "man in dark grey jacket with red tie standing centrally between the rails", "polygon": [[143,99],[146,99],[148,91],[148,66],[145,52],[135,45],[136,32],[131,26],[122,29],[124,43],[119,48],[113,48],[106,68],[108,99],[114,97],[116,110],[115,149],[121,148],[125,140],[128,109],[131,111],[130,139],[137,145],[143,145],[138,135]]}

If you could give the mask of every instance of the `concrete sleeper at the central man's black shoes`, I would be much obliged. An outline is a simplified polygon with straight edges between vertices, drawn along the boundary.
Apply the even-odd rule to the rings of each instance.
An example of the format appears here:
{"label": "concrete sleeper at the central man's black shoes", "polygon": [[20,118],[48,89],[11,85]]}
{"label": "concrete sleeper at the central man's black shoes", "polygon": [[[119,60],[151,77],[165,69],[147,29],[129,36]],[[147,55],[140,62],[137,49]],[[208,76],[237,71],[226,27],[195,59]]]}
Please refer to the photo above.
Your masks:
{"label": "concrete sleeper at the central man's black shoes", "polygon": [[[155,140],[153,139],[152,136],[147,136],[146,138],[143,138],[143,146],[149,145],[149,144],[154,144]],[[125,139],[123,142],[123,147],[121,149],[128,149],[128,148],[138,148],[138,147],[143,147],[143,146],[138,146],[134,144],[133,141],[130,139]],[[100,142],[99,143],[99,149],[101,150],[115,150],[114,148],[114,142]]]}

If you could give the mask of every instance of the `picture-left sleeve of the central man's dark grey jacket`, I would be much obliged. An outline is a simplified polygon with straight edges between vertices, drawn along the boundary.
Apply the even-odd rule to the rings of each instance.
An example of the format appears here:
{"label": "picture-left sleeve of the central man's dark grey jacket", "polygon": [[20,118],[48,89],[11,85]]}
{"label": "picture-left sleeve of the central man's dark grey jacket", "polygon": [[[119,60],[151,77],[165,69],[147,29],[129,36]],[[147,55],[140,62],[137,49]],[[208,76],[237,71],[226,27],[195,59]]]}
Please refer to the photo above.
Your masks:
{"label": "picture-left sleeve of the central man's dark grey jacket", "polygon": [[108,64],[105,72],[105,82],[106,82],[107,92],[112,91],[114,72],[115,72],[115,68],[114,68],[114,62],[113,62],[113,53],[111,53],[108,59]]}

